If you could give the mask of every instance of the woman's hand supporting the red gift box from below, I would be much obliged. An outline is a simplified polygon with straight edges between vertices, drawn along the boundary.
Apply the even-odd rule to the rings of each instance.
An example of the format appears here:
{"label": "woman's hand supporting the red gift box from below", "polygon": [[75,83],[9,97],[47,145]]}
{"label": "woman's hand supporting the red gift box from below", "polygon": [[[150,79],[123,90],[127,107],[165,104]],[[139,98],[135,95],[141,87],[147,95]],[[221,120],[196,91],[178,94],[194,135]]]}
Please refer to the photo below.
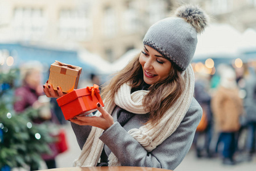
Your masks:
{"label": "woman's hand supporting the red gift box from below", "polygon": [[74,119],[70,119],[70,121],[78,125],[91,125],[92,127],[106,130],[114,124],[113,117],[103,109],[100,103],[97,103],[97,109],[101,113],[100,116],[76,116]]}

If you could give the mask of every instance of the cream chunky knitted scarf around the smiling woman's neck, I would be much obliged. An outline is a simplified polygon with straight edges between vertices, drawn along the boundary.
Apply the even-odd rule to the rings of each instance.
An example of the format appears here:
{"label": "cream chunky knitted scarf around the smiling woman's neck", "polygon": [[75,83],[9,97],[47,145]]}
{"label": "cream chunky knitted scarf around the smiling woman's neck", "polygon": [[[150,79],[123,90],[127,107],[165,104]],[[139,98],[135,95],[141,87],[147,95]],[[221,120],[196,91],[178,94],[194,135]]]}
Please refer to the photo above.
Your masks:
{"label": "cream chunky knitted scarf around the smiling woman's neck", "polygon": [[[128,133],[136,139],[148,152],[151,152],[167,139],[180,125],[182,119],[186,115],[192,101],[194,92],[194,72],[192,66],[183,72],[185,80],[185,89],[181,93],[176,103],[172,105],[162,116],[159,124],[153,127],[151,124],[146,124],[139,129],[131,129]],[[131,87],[128,84],[123,84],[115,95],[115,103],[105,105],[105,110],[112,113],[116,105],[136,114],[145,114],[142,99],[147,95],[148,91],[135,91],[131,94]],[[100,112],[96,113],[97,116]],[[90,135],[83,146],[82,152],[77,160],[74,161],[74,166],[96,166],[99,161],[100,154],[103,150],[103,142],[99,139],[103,129],[92,127]],[[120,166],[117,157],[111,153],[108,156],[109,166]]]}

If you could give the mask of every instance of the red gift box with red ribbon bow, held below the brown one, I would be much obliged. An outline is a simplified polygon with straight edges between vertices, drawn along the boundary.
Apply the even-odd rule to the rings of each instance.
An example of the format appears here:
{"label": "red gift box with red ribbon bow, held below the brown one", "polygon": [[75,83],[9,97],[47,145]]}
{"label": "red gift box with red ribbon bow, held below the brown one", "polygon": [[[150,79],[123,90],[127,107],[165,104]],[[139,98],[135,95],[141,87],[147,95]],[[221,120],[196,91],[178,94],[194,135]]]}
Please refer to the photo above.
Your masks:
{"label": "red gift box with red ribbon bow, held below the brown one", "polygon": [[74,89],[74,91],[57,99],[59,107],[66,120],[72,119],[78,115],[88,115],[97,110],[97,103],[103,107],[103,101],[100,97],[99,86]]}

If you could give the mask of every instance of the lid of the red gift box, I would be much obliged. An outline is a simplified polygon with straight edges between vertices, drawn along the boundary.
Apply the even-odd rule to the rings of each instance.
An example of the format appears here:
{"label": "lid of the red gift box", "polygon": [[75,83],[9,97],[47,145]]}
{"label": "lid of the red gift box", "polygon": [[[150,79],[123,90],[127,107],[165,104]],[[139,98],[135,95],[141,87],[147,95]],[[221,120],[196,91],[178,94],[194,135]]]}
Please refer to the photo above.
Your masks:
{"label": "lid of the red gift box", "polygon": [[[97,89],[97,92],[100,92],[99,89]],[[91,95],[91,91],[88,88],[80,88],[80,89],[74,89],[73,91],[67,93],[66,95],[59,97],[57,99],[57,103],[59,104],[59,107],[70,103],[70,101],[73,101],[81,96],[87,96]]]}

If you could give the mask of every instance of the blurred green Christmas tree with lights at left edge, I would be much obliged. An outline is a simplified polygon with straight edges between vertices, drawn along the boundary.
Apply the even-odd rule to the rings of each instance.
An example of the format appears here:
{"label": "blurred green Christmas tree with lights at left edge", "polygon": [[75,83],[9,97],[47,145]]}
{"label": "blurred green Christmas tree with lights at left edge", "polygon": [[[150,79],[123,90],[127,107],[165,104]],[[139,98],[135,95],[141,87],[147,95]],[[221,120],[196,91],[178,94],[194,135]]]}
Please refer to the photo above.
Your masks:
{"label": "blurred green Christmas tree with lights at left edge", "polygon": [[0,72],[0,170],[40,166],[41,154],[50,153],[48,143],[54,141],[48,125],[32,123],[38,110],[28,108],[15,114],[13,111],[14,80],[17,70]]}

